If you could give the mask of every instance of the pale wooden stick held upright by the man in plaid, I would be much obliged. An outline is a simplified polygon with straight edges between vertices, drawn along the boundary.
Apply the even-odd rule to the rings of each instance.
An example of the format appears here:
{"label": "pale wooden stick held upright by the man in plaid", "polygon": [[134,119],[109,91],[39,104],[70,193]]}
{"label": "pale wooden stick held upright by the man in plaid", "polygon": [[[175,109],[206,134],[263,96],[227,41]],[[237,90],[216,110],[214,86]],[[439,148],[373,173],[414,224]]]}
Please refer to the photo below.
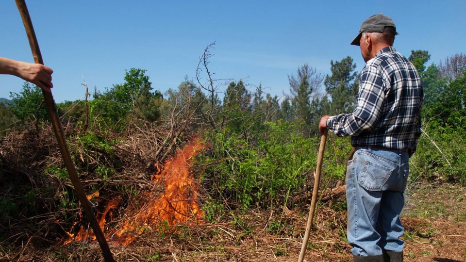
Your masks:
{"label": "pale wooden stick held upright by the man in plaid", "polygon": [[311,231],[312,222],[314,220],[314,211],[316,210],[317,195],[319,192],[320,170],[322,169],[322,160],[324,158],[324,149],[325,149],[325,142],[327,141],[327,134],[328,134],[328,130],[325,130],[324,133],[322,134],[322,137],[320,138],[319,153],[317,155],[316,174],[314,176],[314,189],[312,191],[311,208],[309,209],[306,232],[304,233],[304,238],[302,240],[301,252],[300,252],[300,257],[298,259],[298,262],[302,262],[304,260],[304,254],[306,253],[306,249],[307,249],[307,242],[309,241],[309,233]]}

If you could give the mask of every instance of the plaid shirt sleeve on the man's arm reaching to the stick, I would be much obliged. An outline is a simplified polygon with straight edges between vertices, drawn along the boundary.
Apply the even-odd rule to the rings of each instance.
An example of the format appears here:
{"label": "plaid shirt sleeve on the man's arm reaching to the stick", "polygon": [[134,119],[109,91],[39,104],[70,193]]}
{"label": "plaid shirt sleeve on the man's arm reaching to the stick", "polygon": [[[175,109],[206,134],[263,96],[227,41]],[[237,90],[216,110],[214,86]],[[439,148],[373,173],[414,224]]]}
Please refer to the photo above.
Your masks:
{"label": "plaid shirt sleeve on the man's arm reaching to the stick", "polygon": [[366,65],[361,72],[359,96],[351,114],[334,115],[327,119],[327,128],[337,136],[355,136],[372,129],[379,119],[385,99],[382,72]]}

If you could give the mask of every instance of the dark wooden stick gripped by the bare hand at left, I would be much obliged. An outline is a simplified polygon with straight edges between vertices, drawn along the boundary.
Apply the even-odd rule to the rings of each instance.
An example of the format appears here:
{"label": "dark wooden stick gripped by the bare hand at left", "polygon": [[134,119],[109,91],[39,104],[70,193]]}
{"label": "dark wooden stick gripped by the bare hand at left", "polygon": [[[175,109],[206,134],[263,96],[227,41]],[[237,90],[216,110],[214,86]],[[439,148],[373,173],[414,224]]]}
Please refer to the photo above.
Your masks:
{"label": "dark wooden stick gripped by the bare hand at left", "polygon": [[[37,38],[35,37],[33,22],[31,21],[31,16],[29,16],[28,7],[24,0],[16,0],[16,5],[18,7],[19,13],[24,23],[24,28],[29,39],[29,45],[31,46],[31,51],[33,52],[34,62],[36,64],[44,65],[42,60],[42,55],[40,53],[39,44],[37,43]],[[74,189],[76,191],[76,196],[78,197],[81,206],[83,207],[84,213],[91,224],[92,230],[96,235],[97,241],[99,242],[100,248],[102,249],[103,258],[106,262],[115,262],[112,257],[112,252],[105,240],[102,230],[100,229],[99,223],[97,221],[94,212],[92,212],[91,205],[89,200],[87,200],[84,193],[83,185],[78,178],[78,173],[74,167],[73,161],[71,160],[71,155],[68,150],[68,146],[65,140],[65,134],[60,124],[58,118],[57,109],[55,107],[55,101],[53,100],[52,93],[47,93],[42,91],[44,94],[45,102],[47,105],[47,111],[50,115],[50,121],[52,123],[53,131],[57,137],[58,146],[60,147],[60,152],[62,153],[63,160],[65,161],[65,166],[67,167],[69,177],[73,183]]]}

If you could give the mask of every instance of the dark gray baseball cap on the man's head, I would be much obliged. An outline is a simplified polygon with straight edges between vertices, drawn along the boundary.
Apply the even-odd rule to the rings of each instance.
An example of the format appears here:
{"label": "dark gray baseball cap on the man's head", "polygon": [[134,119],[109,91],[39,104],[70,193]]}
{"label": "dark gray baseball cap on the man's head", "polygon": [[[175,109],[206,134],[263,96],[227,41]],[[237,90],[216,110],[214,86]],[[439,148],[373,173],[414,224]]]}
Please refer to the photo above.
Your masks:
{"label": "dark gray baseball cap on the man's head", "polygon": [[363,32],[393,33],[393,35],[398,34],[397,27],[395,26],[392,18],[382,14],[373,15],[367,18],[361,24],[359,33],[351,42],[351,45],[359,46],[359,39],[361,39]]}

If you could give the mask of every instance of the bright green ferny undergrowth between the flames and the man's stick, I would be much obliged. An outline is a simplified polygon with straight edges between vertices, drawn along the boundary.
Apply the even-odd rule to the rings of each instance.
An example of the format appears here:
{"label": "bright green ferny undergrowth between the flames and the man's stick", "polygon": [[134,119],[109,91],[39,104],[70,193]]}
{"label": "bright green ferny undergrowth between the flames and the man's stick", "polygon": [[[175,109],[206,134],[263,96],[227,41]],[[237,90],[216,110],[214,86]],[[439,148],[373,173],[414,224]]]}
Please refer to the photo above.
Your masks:
{"label": "bright green ferny undergrowth between the flames and the man's stick", "polygon": [[232,199],[244,209],[290,203],[315,166],[318,143],[316,138],[303,139],[295,128],[289,122],[268,122],[257,141],[228,129],[213,135],[204,162],[224,161],[209,165],[204,173],[204,179],[214,183],[211,196]]}

